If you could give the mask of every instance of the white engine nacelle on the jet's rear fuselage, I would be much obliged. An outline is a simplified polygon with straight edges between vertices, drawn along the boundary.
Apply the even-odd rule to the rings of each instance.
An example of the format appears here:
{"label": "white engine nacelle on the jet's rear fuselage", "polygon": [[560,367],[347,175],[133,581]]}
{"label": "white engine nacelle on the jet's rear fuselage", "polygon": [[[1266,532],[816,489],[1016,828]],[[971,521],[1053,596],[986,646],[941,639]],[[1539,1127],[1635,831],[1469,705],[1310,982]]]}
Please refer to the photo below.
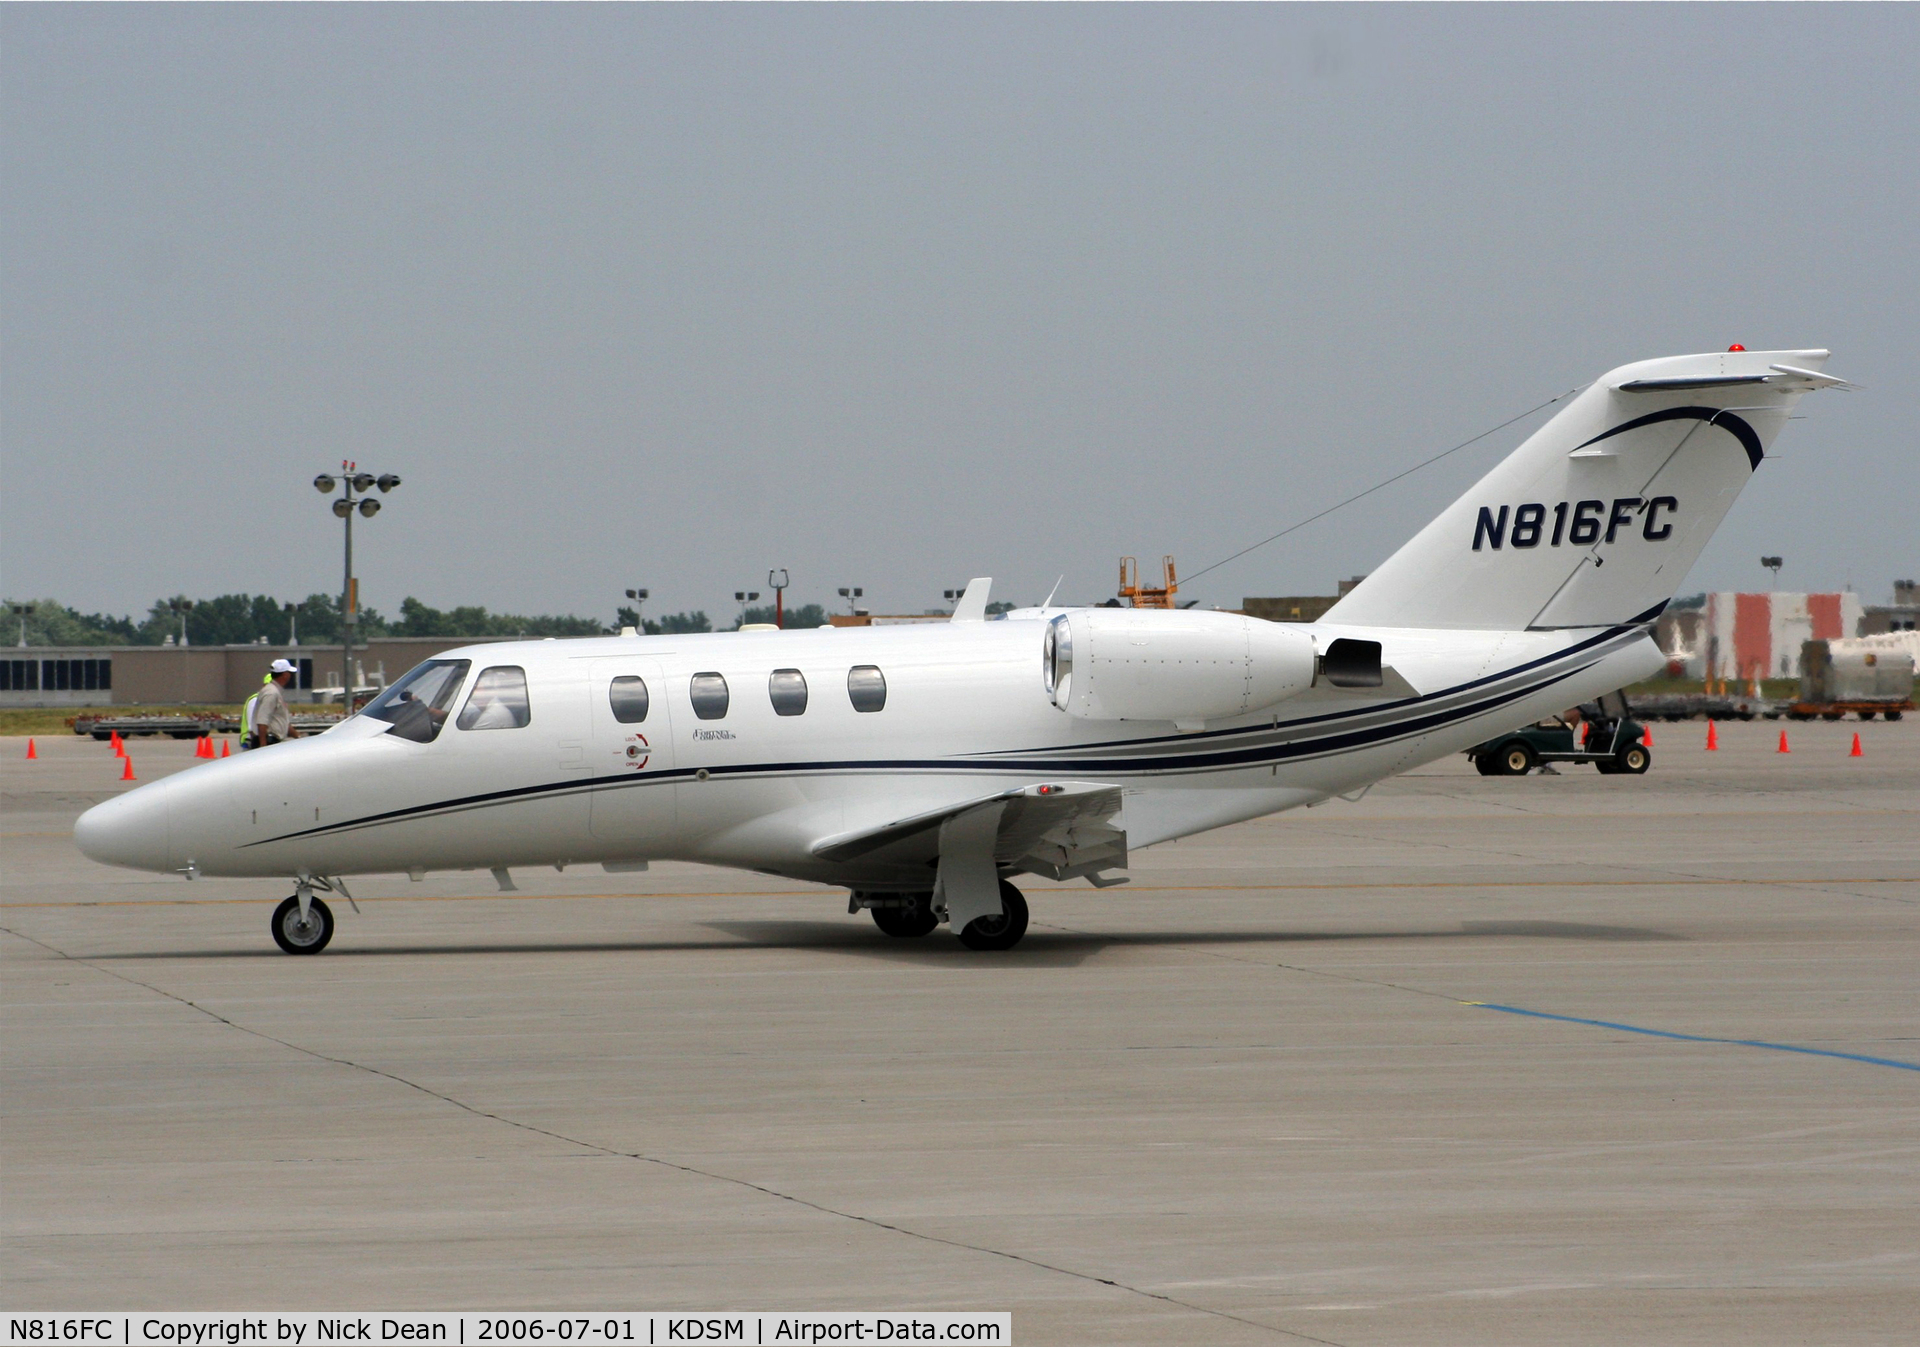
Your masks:
{"label": "white engine nacelle on the jet's rear fuselage", "polygon": [[1198,725],[1313,685],[1313,637],[1236,612],[1079,608],[1046,624],[1046,693],[1085,720]]}

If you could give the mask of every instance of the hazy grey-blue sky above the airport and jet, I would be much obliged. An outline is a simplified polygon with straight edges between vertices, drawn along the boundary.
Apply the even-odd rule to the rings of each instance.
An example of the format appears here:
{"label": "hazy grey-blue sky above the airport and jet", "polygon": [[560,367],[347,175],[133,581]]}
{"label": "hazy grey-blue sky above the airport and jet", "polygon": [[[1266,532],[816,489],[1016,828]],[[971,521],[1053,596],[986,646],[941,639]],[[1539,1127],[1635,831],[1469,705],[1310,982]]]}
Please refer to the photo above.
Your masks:
{"label": "hazy grey-blue sky above the airport and jet", "polygon": [[1920,572],[1912,6],[10,4],[0,65],[12,595],[338,589],[353,457],[386,612],[1096,601],[1730,342],[1866,390],[1688,587]]}

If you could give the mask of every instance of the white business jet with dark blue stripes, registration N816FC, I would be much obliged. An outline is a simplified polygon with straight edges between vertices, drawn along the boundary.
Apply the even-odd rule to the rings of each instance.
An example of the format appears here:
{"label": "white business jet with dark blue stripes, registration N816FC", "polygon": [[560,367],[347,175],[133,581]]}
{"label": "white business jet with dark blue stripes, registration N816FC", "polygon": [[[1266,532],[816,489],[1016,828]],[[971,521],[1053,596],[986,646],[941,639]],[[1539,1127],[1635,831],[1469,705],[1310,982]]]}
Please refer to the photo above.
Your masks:
{"label": "white business jet with dark blue stripes, registration N816FC", "polygon": [[1661,668],[1649,624],[1826,351],[1613,370],[1315,624],[1027,608],[897,627],[449,650],[324,735],[81,815],[113,865],[290,877],[687,860],[851,890],[891,936],[1012,948],[1012,877],[1350,794]]}

